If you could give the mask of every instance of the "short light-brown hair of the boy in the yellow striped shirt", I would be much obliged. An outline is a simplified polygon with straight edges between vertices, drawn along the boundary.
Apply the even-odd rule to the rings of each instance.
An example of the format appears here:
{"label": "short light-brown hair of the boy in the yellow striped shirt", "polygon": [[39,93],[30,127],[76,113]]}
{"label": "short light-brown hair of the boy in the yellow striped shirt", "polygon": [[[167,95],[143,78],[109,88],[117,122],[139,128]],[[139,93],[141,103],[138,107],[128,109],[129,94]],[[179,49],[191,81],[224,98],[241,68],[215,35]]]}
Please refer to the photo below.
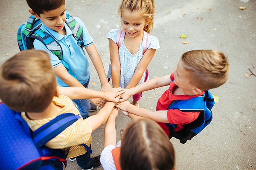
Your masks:
{"label": "short light-brown hair of the boy in the yellow striped shirt", "polygon": [[47,52],[21,51],[0,66],[0,99],[12,110],[44,111],[52,102],[56,87]]}

